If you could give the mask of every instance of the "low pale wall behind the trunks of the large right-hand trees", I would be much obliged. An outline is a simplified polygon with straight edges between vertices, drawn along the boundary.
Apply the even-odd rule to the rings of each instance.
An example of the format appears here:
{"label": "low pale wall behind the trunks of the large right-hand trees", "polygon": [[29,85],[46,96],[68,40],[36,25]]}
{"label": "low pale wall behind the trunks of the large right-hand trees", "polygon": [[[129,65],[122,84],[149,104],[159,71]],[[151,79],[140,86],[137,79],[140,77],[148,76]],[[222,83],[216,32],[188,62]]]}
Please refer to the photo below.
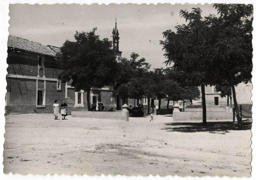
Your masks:
{"label": "low pale wall behind the trunks of the large right-hand trees", "polygon": [[[173,122],[177,121],[202,121],[202,111],[190,111],[190,112],[173,112]],[[207,111],[207,120],[233,120],[233,113],[223,111]]]}

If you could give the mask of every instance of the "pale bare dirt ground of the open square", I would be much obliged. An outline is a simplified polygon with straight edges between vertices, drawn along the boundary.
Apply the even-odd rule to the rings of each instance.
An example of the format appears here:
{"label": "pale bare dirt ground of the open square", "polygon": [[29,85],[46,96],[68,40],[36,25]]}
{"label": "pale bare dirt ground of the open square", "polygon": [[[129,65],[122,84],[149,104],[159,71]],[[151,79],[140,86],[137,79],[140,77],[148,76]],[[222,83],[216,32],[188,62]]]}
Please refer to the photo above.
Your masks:
{"label": "pale bare dirt ground of the open square", "polygon": [[250,176],[251,121],[5,116],[4,173]]}

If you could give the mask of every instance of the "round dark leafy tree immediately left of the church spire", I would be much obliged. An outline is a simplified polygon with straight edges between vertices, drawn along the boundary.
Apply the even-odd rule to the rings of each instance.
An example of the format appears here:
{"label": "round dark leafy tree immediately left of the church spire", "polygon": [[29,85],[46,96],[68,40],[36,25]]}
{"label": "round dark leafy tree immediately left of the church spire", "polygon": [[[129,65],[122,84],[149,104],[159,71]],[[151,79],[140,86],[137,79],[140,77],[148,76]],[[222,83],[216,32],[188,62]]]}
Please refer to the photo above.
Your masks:
{"label": "round dark leafy tree immediately left of the church spire", "polygon": [[91,87],[102,88],[114,82],[117,62],[108,38],[99,39],[97,28],[90,32],[75,33],[75,42],[66,40],[61,47],[60,62],[63,72],[61,81],[72,80],[75,91],[87,92],[87,107],[90,110]]}

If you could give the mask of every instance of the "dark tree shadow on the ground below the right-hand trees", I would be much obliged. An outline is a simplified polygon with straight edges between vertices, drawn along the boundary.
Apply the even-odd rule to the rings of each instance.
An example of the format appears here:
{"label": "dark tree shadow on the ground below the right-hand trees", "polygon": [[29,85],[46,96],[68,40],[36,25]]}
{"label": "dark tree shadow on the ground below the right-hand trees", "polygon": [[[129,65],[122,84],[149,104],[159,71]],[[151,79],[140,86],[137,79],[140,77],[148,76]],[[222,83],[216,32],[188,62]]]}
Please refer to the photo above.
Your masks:
{"label": "dark tree shadow on the ground below the right-hand trees", "polygon": [[249,130],[252,128],[252,120],[242,121],[242,129],[238,128],[237,122],[231,121],[219,121],[219,122],[207,122],[207,125],[203,125],[202,122],[173,122],[165,124],[167,127],[162,130],[167,132],[209,132],[226,134],[230,130]]}

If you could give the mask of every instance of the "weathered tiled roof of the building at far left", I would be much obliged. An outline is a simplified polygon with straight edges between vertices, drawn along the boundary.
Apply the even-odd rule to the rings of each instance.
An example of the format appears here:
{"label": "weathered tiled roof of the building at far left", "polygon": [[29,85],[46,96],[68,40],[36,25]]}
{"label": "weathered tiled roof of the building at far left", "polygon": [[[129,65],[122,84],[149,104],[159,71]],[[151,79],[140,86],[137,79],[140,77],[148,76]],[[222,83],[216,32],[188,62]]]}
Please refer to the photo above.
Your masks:
{"label": "weathered tiled roof of the building at far left", "polygon": [[8,36],[7,46],[8,48],[14,50],[32,52],[39,55],[47,55],[54,57],[56,56],[57,51],[60,51],[60,48],[55,46],[44,46],[38,42],[30,41],[24,38],[19,38],[11,35]]}

